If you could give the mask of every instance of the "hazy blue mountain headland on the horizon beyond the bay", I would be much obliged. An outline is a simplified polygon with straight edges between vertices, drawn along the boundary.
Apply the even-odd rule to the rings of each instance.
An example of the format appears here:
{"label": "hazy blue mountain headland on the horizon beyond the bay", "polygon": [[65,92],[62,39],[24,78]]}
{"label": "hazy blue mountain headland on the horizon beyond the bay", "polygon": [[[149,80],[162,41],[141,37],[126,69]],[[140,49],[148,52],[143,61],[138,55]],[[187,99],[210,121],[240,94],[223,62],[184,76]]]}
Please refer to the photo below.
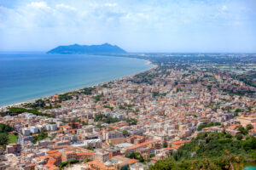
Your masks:
{"label": "hazy blue mountain headland on the horizon beyond the bay", "polygon": [[126,51],[116,45],[104,43],[102,45],[67,45],[53,48],[48,54],[125,54]]}

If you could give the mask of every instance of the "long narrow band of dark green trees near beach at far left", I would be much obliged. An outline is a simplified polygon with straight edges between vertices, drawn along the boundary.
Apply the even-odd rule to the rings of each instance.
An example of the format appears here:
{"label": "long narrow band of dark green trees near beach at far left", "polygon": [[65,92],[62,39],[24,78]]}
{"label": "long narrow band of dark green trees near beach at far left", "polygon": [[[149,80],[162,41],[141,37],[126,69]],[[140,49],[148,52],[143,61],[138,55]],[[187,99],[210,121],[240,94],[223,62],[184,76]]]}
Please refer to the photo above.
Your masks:
{"label": "long narrow band of dark green trees near beach at far left", "polygon": [[7,114],[8,115],[18,115],[18,114],[21,114],[21,113],[24,113],[24,112],[32,113],[32,114],[37,115],[37,116],[55,117],[55,116],[49,115],[47,113],[42,113],[42,112],[40,112],[36,109],[30,110],[30,109],[25,109],[25,108],[22,108],[22,107],[10,107]]}

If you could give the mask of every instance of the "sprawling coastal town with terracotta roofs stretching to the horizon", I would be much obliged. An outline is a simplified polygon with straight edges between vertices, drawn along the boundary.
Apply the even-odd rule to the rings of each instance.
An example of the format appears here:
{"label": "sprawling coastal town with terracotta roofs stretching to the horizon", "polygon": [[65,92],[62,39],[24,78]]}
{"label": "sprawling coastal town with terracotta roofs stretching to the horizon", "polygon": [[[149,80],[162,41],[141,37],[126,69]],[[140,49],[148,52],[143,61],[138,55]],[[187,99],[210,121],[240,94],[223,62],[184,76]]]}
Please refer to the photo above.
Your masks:
{"label": "sprawling coastal town with terracotta roofs stretching to the horizon", "polygon": [[256,136],[254,55],[134,56],[154,67],[2,107],[0,169],[146,170],[202,132]]}

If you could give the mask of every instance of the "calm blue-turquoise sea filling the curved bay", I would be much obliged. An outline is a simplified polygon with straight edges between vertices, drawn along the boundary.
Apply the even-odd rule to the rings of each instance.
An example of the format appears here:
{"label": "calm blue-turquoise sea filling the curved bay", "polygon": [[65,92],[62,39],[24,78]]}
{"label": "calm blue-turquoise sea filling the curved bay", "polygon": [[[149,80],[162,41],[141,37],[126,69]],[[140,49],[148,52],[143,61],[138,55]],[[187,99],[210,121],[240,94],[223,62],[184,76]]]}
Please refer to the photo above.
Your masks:
{"label": "calm blue-turquoise sea filling the curved bay", "polygon": [[142,59],[85,54],[0,53],[0,105],[108,82],[151,67]]}

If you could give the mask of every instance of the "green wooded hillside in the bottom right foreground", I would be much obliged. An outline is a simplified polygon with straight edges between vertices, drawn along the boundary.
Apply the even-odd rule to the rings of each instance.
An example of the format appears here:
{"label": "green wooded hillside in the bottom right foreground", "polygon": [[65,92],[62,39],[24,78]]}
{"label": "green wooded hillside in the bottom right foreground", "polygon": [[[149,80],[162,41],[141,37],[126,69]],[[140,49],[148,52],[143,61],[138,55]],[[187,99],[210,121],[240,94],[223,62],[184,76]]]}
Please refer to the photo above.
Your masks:
{"label": "green wooded hillside in the bottom right foreground", "polygon": [[253,136],[237,140],[225,133],[199,133],[195,139],[172,152],[170,157],[157,161],[149,170],[242,169],[247,162],[256,163],[255,150],[256,138]]}

